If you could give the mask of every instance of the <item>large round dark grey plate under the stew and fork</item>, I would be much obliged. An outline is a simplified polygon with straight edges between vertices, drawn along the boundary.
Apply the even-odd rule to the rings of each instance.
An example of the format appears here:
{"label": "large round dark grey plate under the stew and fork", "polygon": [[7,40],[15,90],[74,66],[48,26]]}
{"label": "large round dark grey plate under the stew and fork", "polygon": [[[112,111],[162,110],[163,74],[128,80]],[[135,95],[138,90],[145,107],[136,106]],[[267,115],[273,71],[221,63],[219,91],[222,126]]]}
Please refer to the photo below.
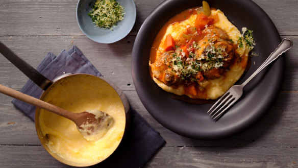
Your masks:
{"label": "large round dark grey plate under the stew and fork", "polygon": [[[252,1],[213,0],[210,7],[220,9],[241,31],[254,31],[252,65],[237,84],[244,82],[273,52],[281,39],[267,14]],[[280,89],[284,73],[284,57],[261,71],[244,87],[242,98],[217,122],[206,113],[212,104],[195,105],[175,100],[150,77],[148,60],[152,42],[164,23],[185,9],[201,6],[201,1],[172,0],[160,4],[146,18],[136,37],[132,53],[132,76],[136,91],[145,108],[164,127],[195,139],[219,139],[235,135],[252,126],[272,105]],[[256,65],[254,65],[254,62]]]}

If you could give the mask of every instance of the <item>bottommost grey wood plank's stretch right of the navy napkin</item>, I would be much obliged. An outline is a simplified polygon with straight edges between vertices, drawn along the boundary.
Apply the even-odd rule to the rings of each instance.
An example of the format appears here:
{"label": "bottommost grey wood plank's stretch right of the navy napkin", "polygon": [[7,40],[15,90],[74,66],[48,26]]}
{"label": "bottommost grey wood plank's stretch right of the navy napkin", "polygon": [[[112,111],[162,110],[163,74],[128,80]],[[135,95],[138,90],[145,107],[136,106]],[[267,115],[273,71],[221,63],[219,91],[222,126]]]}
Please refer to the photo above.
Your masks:
{"label": "bottommost grey wood plank's stretch right of the navy napkin", "polygon": [[145,167],[282,168],[297,167],[297,158],[296,148],[164,147]]}

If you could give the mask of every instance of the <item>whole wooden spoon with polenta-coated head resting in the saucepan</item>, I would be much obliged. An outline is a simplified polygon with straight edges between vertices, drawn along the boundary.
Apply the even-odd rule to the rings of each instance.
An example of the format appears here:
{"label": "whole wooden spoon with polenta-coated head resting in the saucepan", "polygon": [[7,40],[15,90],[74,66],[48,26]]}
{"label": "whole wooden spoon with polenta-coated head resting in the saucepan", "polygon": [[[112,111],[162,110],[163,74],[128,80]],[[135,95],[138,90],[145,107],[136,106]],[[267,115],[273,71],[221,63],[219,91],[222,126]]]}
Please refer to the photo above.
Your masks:
{"label": "whole wooden spoon with polenta-coated head resting in the saucepan", "polygon": [[114,118],[103,111],[90,110],[72,113],[3,85],[0,85],[0,92],[70,119],[77,125],[79,132],[87,140],[100,139],[114,124]]}

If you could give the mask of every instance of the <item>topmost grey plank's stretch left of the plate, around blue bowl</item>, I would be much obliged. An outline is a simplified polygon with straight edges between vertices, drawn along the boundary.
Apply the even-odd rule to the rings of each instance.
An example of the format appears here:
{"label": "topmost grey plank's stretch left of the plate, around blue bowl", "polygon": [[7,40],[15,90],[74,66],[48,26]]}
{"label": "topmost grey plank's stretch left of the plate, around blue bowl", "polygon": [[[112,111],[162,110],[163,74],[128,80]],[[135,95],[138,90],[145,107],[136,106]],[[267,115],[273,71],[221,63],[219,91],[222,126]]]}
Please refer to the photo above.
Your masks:
{"label": "topmost grey plank's stretch left of the plate, around blue bowl", "polygon": [[[137,18],[131,34],[136,35],[147,15],[161,2],[135,1]],[[76,18],[77,3],[77,0],[1,1],[0,36],[82,36]]]}

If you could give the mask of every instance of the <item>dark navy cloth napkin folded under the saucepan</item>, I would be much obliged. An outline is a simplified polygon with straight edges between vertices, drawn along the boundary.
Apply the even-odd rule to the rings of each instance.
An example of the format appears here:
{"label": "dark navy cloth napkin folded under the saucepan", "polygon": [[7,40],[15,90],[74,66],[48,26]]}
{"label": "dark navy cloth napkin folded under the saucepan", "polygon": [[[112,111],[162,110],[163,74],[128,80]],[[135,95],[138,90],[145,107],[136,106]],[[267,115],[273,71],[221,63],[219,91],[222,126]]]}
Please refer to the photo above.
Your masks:
{"label": "dark navy cloth napkin folded under the saucepan", "polygon": [[[37,70],[47,79],[53,80],[63,73],[102,74],[88,61],[77,46],[58,56],[48,53]],[[39,98],[43,90],[31,80],[20,90],[35,98]],[[14,99],[12,103],[33,121],[35,107]],[[134,109],[131,109],[131,123],[117,150],[106,160],[93,167],[142,167],[165,143],[160,134],[155,131]]]}

